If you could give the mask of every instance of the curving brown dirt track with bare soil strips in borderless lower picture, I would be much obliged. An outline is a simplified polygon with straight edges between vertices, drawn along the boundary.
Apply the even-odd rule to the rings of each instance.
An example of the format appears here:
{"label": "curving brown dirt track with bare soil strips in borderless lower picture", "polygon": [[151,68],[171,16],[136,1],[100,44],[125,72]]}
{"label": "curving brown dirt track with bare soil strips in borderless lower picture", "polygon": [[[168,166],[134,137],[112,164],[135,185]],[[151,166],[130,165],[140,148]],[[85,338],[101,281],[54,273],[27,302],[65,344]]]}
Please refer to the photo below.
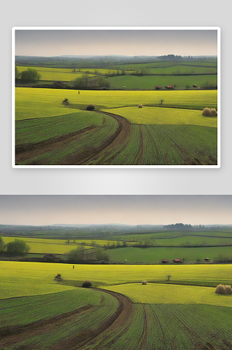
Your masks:
{"label": "curving brown dirt track with bare soil strips in borderless lower picture", "polygon": [[[94,344],[97,337],[102,335],[106,330],[117,329],[122,323],[126,322],[131,315],[132,302],[129,298],[122,294],[111,292],[108,290],[103,290],[100,288],[92,288],[95,290],[102,290],[105,293],[113,295],[118,301],[118,307],[115,313],[110,316],[105,322],[101,323],[99,327],[95,329],[85,330],[80,332],[74,337],[69,337],[61,342],[49,346],[49,350],[81,350],[84,349],[87,344],[91,342]],[[75,320],[75,316],[82,312],[87,312],[92,309],[92,305],[87,305],[81,307],[80,309],[73,310],[66,314],[61,314],[58,316],[52,316],[50,318],[45,318],[28,325],[19,325],[13,327],[4,327],[0,330],[0,349],[6,349],[6,347],[16,345],[17,343],[24,342],[31,337],[36,337],[38,335],[43,335],[45,332],[52,331],[52,328],[61,326],[67,322]],[[21,349],[21,348],[18,348]],[[23,347],[25,350],[35,349],[34,345],[28,344]]]}

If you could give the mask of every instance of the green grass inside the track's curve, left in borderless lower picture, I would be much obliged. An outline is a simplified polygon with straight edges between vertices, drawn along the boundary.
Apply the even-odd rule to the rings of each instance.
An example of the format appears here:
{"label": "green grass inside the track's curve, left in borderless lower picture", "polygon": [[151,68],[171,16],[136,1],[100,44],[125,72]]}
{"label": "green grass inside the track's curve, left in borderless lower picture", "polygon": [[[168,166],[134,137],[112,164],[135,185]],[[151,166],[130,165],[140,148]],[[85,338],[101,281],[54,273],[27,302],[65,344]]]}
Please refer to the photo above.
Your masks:
{"label": "green grass inside the track's curve, left in borderless lower picture", "polygon": [[[32,304],[31,304],[32,303]],[[48,349],[50,346],[59,347],[65,346],[69,349],[73,344],[73,337],[78,339],[78,335],[83,332],[94,332],[94,330],[104,323],[117,309],[118,302],[115,297],[102,293],[96,290],[80,290],[75,288],[70,294],[66,295],[51,295],[50,300],[48,297],[37,297],[34,300],[18,300],[14,306],[10,302],[6,302],[9,318],[3,312],[7,323],[19,324],[19,323],[31,323],[31,321],[38,321],[41,318],[57,316],[64,314],[67,311],[78,309],[84,305],[93,306],[87,311],[82,311],[80,314],[75,314],[71,318],[64,318],[55,324],[49,324],[45,326],[43,332],[40,328],[37,328],[28,333],[28,336],[24,337],[24,341],[15,339],[16,344],[4,349],[24,349],[28,346],[31,349]],[[20,311],[23,310],[24,318],[19,317]],[[6,311],[7,312],[7,311]],[[16,313],[16,315],[14,314]],[[4,318],[4,317],[3,317]],[[36,335],[37,333],[37,335]],[[4,341],[4,339],[3,339]],[[7,341],[6,341],[7,343]]]}

